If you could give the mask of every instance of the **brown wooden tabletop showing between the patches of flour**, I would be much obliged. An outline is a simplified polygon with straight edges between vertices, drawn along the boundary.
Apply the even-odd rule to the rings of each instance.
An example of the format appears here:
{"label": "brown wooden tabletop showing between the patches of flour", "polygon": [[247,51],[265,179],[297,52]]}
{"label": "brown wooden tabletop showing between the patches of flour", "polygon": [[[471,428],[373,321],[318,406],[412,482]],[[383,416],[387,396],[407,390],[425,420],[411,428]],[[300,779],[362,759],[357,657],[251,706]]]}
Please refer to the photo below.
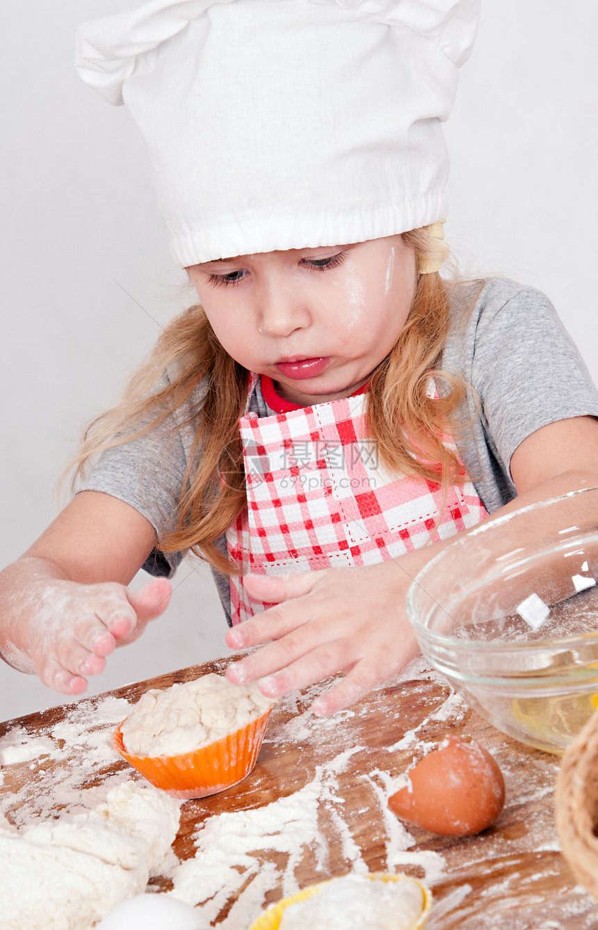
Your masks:
{"label": "brown wooden tabletop showing between the patches of flour", "polygon": [[[135,702],[149,687],[164,688],[208,671],[221,673],[228,661],[194,666],[110,695]],[[179,859],[193,857],[197,830],[210,817],[271,804],[301,790],[318,773],[334,770],[327,795],[318,805],[318,830],[325,838],[326,862],[323,865],[321,850],[318,854],[309,846],[299,849],[294,866],[299,887],[352,870],[342,839],[349,835],[356,850],[353,856],[361,857],[370,871],[404,871],[423,878],[421,862],[425,857],[420,854],[442,856],[442,860],[432,857],[435,862],[444,860],[444,865],[442,875],[435,875],[431,883],[434,904],[428,930],[598,927],[593,899],[575,884],[558,852],[552,800],[558,758],[529,749],[486,724],[453,695],[448,684],[422,666],[373,692],[350,711],[329,719],[309,712],[312,699],[324,687],[326,683],[288,697],[272,711],[258,764],[243,782],[212,797],[183,804],[173,847]],[[76,719],[77,712],[88,714],[103,697],[106,695],[84,698],[0,724],[0,738],[14,732],[15,727],[32,737],[48,737],[56,724]],[[408,849],[404,844],[397,851],[396,843],[392,846],[392,815],[386,806],[388,785],[447,733],[473,738],[493,753],[505,777],[505,808],[495,826],[466,839],[433,836],[409,827],[413,842]],[[331,769],[335,760],[336,767]],[[81,760],[76,753],[68,757],[67,752],[66,762],[61,764],[50,764],[41,756],[33,762],[6,765],[0,791],[8,818],[11,797],[17,803],[22,791],[27,786],[35,790],[35,784],[43,784],[40,790],[51,793],[78,764]],[[81,788],[100,785],[125,769],[137,777],[115,757]],[[340,831],[339,817],[346,825]],[[260,865],[270,862],[280,875],[288,870],[286,854],[264,848],[258,855]],[[171,887],[164,877],[152,883],[159,889]],[[238,894],[239,890],[234,890],[223,902],[214,925],[225,922]],[[282,883],[278,883],[268,890],[265,901],[272,903],[283,895]]]}

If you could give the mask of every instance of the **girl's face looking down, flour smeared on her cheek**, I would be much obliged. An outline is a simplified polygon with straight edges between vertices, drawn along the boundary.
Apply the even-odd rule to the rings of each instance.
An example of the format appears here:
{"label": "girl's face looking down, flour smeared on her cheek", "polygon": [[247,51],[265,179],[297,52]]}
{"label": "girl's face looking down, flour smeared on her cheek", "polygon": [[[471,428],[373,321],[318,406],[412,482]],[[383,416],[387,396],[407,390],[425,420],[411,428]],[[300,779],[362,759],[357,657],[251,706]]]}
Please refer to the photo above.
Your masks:
{"label": "girl's face looking down, flour smeared on her cheek", "polygon": [[416,258],[400,236],[260,252],[188,269],[224,349],[299,405],[347,397],[391,351]]}

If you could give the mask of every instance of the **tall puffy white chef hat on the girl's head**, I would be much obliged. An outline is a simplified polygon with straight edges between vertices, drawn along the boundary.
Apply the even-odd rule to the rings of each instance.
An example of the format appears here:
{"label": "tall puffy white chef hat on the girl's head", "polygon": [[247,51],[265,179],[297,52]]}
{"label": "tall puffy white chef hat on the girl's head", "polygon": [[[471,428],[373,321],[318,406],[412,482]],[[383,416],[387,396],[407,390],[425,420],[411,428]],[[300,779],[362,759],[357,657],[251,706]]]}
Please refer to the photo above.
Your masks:
{"label": "tall puffy white chef hat on the girl's head", "polygon": [[479,0],[152,0],[76,65],[146,141],[181,267],[443,219],[440,122]]}

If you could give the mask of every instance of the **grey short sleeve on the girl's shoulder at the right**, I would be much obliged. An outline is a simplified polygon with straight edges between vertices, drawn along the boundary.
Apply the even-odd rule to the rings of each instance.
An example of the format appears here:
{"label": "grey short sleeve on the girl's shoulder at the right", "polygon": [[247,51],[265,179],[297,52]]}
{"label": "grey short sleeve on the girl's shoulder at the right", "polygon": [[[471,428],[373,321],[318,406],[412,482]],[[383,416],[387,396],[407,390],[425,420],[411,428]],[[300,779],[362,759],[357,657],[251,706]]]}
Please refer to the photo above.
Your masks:
{"label": "grey short sleeve on the girl's shoulder at the right", "polygon": [[457,437],[458,448],[492,512],[516,496],[510,464],[517,446],[549,423],[598,417],[598,392],[540,291],[497,279],[482,288],[469,316],[466,299],[461,303],[442,366],[473,388],[463,418],[470,428]]}

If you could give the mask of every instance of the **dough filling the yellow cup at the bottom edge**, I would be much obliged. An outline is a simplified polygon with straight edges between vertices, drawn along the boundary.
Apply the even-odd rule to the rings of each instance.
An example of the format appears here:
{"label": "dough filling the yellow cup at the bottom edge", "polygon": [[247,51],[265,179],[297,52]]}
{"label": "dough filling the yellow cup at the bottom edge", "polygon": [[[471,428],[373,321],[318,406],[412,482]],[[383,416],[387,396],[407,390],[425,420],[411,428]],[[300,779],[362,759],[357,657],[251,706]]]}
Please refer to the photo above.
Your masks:
{"label": "dough filling the yellow cup at the bottom edge", "polygon": [[373,881],[365,875],[333,879],[305,901],[290,904],[280,930],[408,930],[423,910],[416,882]]}

